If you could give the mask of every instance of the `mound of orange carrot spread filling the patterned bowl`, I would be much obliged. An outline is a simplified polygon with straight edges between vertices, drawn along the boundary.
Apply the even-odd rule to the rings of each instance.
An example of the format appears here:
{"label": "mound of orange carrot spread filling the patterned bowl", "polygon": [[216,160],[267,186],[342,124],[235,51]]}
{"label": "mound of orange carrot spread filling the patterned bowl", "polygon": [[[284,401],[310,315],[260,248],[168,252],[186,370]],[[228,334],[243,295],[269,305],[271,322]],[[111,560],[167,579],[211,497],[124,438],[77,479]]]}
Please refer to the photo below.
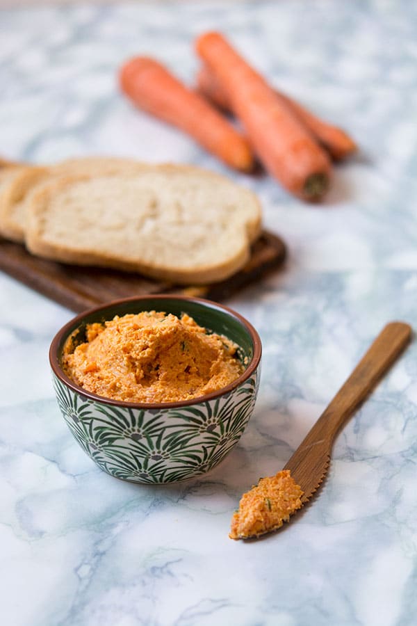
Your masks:
{"label": "mound of orange carrot spread filling the patterned bowl", "polygon": [[63,351],[67,376],[92,393],[128,402],[176,402],[226,387],[243,373],[238,346],[187,314],[115,316],[92,323],[86,341]]}

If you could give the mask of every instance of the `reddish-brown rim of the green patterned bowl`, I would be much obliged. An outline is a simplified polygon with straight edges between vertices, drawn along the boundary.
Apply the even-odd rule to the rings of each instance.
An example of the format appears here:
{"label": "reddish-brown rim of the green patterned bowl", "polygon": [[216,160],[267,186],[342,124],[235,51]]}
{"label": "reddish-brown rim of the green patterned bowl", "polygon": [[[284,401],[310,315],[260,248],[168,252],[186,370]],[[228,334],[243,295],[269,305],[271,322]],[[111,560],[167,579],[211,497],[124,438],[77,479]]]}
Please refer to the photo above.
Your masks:
{"label": "reddish-brown rim of the green patterned bowl", "polygon": [[[254,353],[252,355],[252,360],[248,364],[247,368],[240,374],[238,378],[233,380],[226,387],[222,387],[220,390],[216,390],[215,392],[211,392],[210,394],[204,394],[204,396],[196,396],[190,400],[180,400],[176,402],[128,402],[124,400],[115,400],[112,398],[106,398],[105,396],[99,396],[94,394],[80,385],[74,383],[69,376],[67,376],[63,369],[60,367],[60,360],[58,358],[58,347],[60,344],[63,344],[63,341],[67,339],[67,336],[70,335],[70,330],[74,330],[74,326],[81,323],[83,319],[91,314],[95,314],[99,311],[106,310],[110,307],[122,305],[124,303],[129,303],[133,301],[140,302],[141,300],[161,300],[163,303],[164,300],[181,300],[184,303],[193,302],[203,307],[208,307],[211,309],[221,310],[232,318],[236,319],[241,326],[247,330],[249,333],[252,344],[254,346]],[[171,409],[171,408],[181,408],[185,406],[191,406],[193,404],[200,404],[202,402],[211,401],[216,398],[220,398],[220,396],[224,396],[225,394],[229,394],[236,389],[236,387],[240,387],[242,383],[252,376],[256,368],[259,366],[259,362],[261,360],[262,354],[262,344],[261,337],[257,330],[252,326],[252,324],[243,317],[237,311],[227,307],[225,305],[214,302],[213,300],[207,300],[205,298],[197,298],[195,296],[181,296],[177,294],[147,294],[142,296],[129,296],[129,298],[119,298],[117,300],[109,300],[107,303],[98,305],[97,307],[92,307],[87,309],[78,315],[74,316],[70,321],[64,324],[56,333],[54,339],[52,339],[51,346],[49,348],[49,363],[51,365],[51,369],[54,372],[55,376],[63,383],[66,387],[70,387],[73,392],[77,394],[81,394],[85,398],[99,402],[102,404],[110,404],[111,406],[118,406],[120,408],[132,408],[132,409],[140,409],[140,410],[161,410],[161,409]]]}

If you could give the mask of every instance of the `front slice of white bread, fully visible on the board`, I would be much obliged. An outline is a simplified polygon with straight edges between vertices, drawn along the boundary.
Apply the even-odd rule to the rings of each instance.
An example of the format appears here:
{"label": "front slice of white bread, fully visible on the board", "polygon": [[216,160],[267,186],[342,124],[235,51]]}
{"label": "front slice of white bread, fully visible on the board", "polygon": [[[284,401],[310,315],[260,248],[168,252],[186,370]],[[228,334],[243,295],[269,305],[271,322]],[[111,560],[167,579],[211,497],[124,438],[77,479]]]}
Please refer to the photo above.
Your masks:
{"label": "front slice of white bread, fully visible on the board", "polygon": [[256,195],[229,179],[140,164],[40,186],[28,208],[26,246],[61,262],[206,284],[243,267],[260,228]]}

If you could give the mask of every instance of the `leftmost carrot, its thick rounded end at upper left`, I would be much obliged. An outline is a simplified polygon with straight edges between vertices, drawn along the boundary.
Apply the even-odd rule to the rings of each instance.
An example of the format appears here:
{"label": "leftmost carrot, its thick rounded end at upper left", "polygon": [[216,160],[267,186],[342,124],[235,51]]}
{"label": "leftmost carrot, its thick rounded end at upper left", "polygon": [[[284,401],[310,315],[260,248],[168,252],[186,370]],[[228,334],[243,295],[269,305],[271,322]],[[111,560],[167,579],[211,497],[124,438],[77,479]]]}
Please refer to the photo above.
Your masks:
{"label": "leftmost carrot, its thick rounded end at upper left", "polygon": [[252,169],[254,158],[247,140],[161,63],[143,56],[132,58],[120,70],[120,86],[140,109],[186,131],[227,165],[245,172]]}

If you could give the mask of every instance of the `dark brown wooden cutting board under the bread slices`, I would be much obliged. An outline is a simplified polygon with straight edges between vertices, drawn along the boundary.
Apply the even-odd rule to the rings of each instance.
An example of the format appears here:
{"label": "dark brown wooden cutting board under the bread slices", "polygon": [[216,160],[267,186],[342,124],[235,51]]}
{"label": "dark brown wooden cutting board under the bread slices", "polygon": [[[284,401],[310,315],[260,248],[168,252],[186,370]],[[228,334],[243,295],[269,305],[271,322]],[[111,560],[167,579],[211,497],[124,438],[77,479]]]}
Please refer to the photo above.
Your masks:
{"label": "dark brown wooden cutting board under the bread slices", "polygon": [[224,300],[265,273],[283,264],[286,246],[282,239],[264,231],[252,246],[247,265],[231,278],[209,285],[179,287],[139,274],[104,268],[64,265],[35,257],[19,243],[0,239],[0,270],[41,294],[76,312],[109,300],[146,294],[181,293],[210,300]]}

